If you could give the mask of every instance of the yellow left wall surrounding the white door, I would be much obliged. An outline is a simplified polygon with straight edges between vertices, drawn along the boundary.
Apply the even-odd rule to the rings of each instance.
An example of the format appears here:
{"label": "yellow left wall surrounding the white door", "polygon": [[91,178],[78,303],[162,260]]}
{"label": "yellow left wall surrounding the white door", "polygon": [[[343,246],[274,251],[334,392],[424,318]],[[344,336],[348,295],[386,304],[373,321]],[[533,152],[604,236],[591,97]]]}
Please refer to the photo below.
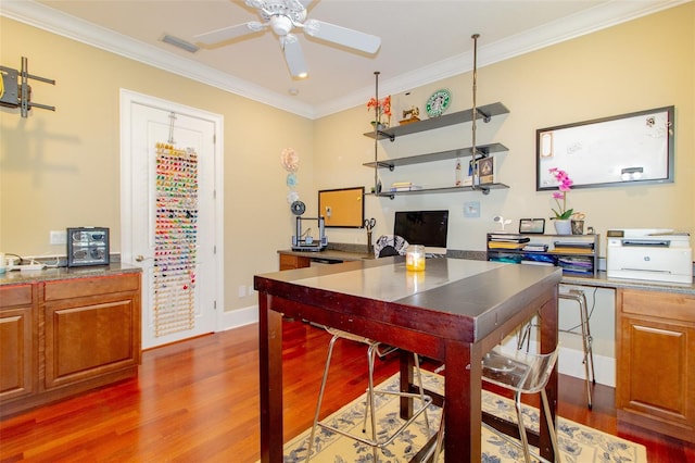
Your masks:
{"label": "yellow left wall surrounding the white door", "polygon": [[[312,121],[84,43],[0,17],[0,63],[56,80],[31,83],[34,101],[56,111],[0,108],[0,249],[22,255],[65,254],[49,232],[108,226],[121,251],[119,89],[224,116],[226,309],[255,303],[237,288],[278,268],[292,214],[280,152],[302,155],[303,198],[312,187]],[[315,201],[315,199],[314,199]]]}

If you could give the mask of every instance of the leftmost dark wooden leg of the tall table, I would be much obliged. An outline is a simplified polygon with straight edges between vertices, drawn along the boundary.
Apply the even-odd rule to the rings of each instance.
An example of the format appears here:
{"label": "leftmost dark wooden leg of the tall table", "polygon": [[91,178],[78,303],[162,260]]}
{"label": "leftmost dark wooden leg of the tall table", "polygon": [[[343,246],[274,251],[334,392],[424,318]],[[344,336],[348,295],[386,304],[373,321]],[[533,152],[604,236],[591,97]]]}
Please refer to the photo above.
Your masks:
{"label": "leftmost dark wooden leg of the tall table", "polygon": [[282,462],[282,314],[269,310],[270,296],[258,293],[261,378],[261,461]]}

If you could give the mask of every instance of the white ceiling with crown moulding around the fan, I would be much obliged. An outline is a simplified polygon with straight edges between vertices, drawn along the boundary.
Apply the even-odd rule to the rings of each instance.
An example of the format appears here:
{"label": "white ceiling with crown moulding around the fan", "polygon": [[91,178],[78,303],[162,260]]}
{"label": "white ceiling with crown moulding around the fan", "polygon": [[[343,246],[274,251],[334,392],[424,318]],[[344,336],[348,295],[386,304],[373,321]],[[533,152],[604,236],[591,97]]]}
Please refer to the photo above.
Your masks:
{"label": "white ceiling with crown moulding around the fan", "polygon": [[[162,41],[262,21],[242,0],[2,0],[0,14],[309,118],[547,47],[688,0],[302,0],[308,17],[381,37],[375,55],[299,34],[293,79],[271,30],[195,53]],[[11,65],[12,63],[1,63]],[[296,95],[291,95],[296,91]]]}

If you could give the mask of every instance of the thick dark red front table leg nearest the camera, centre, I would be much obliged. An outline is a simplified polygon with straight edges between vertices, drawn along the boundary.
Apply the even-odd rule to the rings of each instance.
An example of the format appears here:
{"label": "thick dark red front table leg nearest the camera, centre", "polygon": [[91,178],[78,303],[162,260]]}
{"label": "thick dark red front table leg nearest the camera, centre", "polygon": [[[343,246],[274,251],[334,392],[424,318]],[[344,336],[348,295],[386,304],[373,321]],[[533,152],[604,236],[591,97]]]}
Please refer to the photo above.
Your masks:
{"label": "thick dark red front table leg nearest the camera, centre", "polygon": [[445,462],[481,460],[481,374],[480,345],[446,342],[444,381]]}

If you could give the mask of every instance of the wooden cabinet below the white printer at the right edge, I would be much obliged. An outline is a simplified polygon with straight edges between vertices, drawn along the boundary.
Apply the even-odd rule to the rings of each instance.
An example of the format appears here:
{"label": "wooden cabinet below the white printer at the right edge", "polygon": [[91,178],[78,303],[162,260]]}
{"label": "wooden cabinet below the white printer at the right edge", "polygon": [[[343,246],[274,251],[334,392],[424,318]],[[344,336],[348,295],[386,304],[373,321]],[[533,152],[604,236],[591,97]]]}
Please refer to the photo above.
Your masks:
{"label": "wooden cabinet below the white printer at the right edge", "polygon": [[695,297],[617,291],[618,420],[695,442]]}

